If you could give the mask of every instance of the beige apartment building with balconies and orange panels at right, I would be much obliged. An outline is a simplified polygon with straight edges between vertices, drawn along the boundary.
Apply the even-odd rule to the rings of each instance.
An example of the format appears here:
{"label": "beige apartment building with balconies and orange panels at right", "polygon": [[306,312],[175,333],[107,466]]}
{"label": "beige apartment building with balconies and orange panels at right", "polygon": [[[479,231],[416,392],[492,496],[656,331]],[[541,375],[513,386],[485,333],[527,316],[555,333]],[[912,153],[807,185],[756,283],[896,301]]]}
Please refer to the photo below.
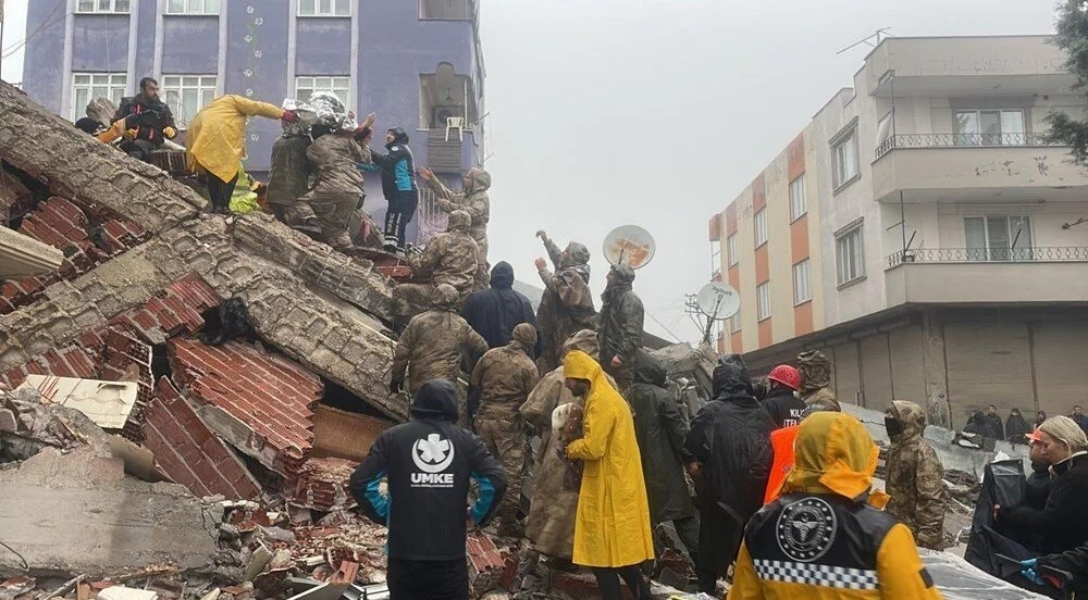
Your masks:
{"label": "beige apartment building with balconies and orange panels at right", "polygon": [[712,220],[742,298],[719,347],[763,371],[820,349],[840,399],[956,426],[1088,402],[1088,172],[1044,139],[1086,113],[1061,62],[1044,36],[878,45]]}

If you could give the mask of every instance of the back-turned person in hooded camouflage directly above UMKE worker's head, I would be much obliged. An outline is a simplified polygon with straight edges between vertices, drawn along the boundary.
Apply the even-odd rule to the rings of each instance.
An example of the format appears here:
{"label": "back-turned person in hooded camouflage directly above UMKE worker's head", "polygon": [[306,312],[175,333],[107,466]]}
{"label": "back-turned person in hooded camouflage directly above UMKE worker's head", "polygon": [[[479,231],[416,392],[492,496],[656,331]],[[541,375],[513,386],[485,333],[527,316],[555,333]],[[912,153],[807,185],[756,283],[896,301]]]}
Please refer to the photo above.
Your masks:
{"label": "back-turned person in hooded camouflage directly above UMKE worker's head", "polygon": [[[393,393],[405,389],[406,374],[410,395],[431,379],[456,382],[461,375],[462,355],[479,357],[487,351],[487,342],[457,314],[457,290],[438,284],[432,295],[433,308],[413,317],[397,340],[390,378]],[[467,424],[463,396],[459,400],[461,423]]]}

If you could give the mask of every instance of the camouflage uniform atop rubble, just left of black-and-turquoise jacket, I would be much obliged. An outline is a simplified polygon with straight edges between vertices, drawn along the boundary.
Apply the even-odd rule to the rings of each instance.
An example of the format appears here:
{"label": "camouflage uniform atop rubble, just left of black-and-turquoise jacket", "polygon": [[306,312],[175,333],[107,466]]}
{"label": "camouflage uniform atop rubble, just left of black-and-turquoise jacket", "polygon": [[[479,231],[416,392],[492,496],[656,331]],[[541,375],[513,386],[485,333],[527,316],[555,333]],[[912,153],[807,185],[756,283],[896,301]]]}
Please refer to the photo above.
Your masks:
{"label": "camouflage uniform atop rubble, just left of black-and-turquoise jacket", "polygon": [[325,134],[306,150],[313,170],[313,187],[287,210],[287,223],[320,225],[321,241],[337,250],[353,247],[347,221],[362,199],[362,174],[357,162],[370,162],[370,149],[350,137]]}

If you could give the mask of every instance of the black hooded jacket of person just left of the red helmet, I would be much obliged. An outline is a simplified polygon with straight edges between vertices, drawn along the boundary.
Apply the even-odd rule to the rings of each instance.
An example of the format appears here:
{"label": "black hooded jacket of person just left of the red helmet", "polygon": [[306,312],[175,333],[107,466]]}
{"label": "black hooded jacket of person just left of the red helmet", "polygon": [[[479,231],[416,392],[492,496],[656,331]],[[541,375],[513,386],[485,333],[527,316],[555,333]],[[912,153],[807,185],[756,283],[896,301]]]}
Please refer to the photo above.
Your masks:
{"label": "black hooded jacket of person just left of the red helmet", "polygon": [[763,505],[775,423],[752,396],[752,380],[739,355],[718,359],[713,379],[714,400],[692,421],[684,451],[689,462],[701,463],[701,500],[715,502],[741,524]]}

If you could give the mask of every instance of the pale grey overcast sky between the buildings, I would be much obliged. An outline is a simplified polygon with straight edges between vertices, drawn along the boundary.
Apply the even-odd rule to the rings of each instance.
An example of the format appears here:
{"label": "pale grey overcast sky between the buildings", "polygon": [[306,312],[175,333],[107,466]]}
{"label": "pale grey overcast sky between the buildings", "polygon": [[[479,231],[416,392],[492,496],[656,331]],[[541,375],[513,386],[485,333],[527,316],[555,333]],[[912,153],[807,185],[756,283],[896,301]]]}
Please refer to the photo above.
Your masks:
{"label": "pale grey overcast sky between the buildings", "polygon": [[[4,54],[23,40],[26,3],[7,1]],[[635,282],[646,328],[685,341],[700,334],[684,295],[712,270],[707,221],[852,84],[868,47],[836,52],[880,27],[898,36],[1053,30],[1047,0],[481,3],[491,261],[535,283],[543,248],[533,234],[544,228],[560,246],[590,247],[599,291],[604,236],[642,225],[657,239]],[[4,58],[2,71],[20,80],[22,54]]]}

